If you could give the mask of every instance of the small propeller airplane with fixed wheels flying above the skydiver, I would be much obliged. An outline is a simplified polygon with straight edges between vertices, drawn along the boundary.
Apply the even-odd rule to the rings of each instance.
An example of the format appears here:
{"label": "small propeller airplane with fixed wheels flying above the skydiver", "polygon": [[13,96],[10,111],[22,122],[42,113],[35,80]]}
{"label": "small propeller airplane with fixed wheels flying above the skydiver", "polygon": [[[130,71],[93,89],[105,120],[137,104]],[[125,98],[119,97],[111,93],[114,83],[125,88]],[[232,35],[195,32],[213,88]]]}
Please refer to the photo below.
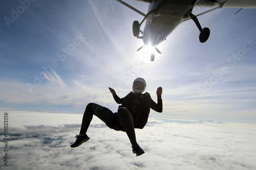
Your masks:
{"label": "small propeller airplane with fixed wheels flying above the skydiver", "polygon": [[[141,22],[137,20],[133,22],[133,35],[143,39],[144,43],[137,51],[147,45],[154,47],[159,54],[161,52],[156,46],[166,40],[166,37],[184,21],[193,19],[200,31],[199,41],[203,43],[209,38],[210,29],[201,27],[197,19],[198,16],[223,7],[256,8],[256,0],[135,0],[149,3],[147,14],[144,14],[121,0],[116,1],[144,16]],[[194,7],[212,7],[212,9],[194,15],[192,13]],[[141,31],[140,27],[145,20],[144,30]],[[142,33],[142,36],[139,36],[140,33]],[[151,61],[154,61],[154,59],[155,54],[152,53]]]}

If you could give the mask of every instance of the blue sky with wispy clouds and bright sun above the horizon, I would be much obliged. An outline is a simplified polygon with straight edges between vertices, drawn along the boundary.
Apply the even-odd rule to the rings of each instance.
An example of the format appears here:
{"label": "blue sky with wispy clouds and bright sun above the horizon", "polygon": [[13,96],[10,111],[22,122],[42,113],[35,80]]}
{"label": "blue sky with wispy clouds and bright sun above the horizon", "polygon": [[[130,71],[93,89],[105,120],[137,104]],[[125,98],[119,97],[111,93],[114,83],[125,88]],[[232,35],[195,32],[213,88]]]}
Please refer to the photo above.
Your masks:
{"label": "blue sky with wispy clouds and bright sun above the horizon", "polygon": [[[125,2],[147,12],[146,3]],[[122,98],[142,77],[155,101],[163,87],[163,113],[152,117],[256,123],[255,9],[198,17],[211,30],[205,43],[193,20],[181,23],[151,62],[147,48],[136,51],[143,42],[132,33],[143,17],[116,1],[5,0],[0,8],[5,111],[83,113],[93,102],[115,112],[108,87]]]}

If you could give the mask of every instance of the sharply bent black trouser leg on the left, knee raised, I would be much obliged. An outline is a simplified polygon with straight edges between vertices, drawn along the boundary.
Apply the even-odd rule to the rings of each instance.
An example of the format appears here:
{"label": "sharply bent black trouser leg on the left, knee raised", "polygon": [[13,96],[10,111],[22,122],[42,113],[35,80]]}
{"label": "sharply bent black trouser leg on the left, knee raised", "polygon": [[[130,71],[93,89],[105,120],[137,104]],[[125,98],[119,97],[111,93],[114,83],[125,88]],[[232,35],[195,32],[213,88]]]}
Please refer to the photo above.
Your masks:
{"label": "sharply bent black trouser leg on the left, knee raised", "polygon": [[108,108],[102,107],[94,103],[88,104],[86,110],[83,113],[80,135],[86,134],[92,121],[93,115],[96,115],[106,124],[109,122],[111,116],[113,115],[113,112]]}

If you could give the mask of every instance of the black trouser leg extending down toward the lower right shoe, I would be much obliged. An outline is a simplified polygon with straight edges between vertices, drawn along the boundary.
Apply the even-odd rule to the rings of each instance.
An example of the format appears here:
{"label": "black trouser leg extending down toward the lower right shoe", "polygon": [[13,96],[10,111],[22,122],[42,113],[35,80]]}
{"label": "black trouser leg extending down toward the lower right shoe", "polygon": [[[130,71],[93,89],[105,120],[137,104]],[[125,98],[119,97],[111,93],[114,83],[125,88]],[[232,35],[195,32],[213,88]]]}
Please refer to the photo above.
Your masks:
{"label": "black trouser leg extending down toward the lower right shoe", "polygon": [[132,144],[137,143],[133,124],[133,116],[130,111],[124,107],[118,109],[119,124],[123,127]]}

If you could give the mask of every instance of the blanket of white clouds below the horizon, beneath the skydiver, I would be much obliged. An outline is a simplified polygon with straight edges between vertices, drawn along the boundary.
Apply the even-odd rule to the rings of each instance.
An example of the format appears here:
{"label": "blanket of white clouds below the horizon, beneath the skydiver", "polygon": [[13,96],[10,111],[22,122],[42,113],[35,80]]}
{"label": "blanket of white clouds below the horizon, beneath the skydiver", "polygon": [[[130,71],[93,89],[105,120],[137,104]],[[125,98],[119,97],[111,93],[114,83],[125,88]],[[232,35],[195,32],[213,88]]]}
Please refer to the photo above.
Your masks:
{"label": "blanket of white clouds below the horizon, beneath the skydiver", "polygon": [[[1,110],[2,111],[2,110]],[[94,117],[90,140],[70,148],[82,114],[8,112],[8,139],[0,127],[1,169],[255,169],[255,124],[150,118],[137,141],[145,154],[132,152],[124,132]],[[36,115],[36,116],[34,116]],[[2,123],[2,119],[1,119]],[[3,157],[8,154],[8,166]]]}

